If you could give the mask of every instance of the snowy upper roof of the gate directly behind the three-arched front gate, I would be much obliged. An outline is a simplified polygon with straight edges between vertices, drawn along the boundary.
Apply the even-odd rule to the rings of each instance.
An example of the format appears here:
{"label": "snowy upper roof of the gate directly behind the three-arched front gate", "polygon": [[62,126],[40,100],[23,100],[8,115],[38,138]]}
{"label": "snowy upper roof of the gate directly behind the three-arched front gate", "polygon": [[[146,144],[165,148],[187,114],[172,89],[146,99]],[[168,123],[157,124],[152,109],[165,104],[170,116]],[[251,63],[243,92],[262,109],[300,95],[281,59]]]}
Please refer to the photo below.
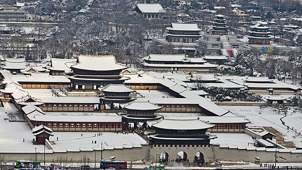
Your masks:
{"label": "snowy upper roof of the gate directly behind the three-arched front gate", "polygon": [[159,110],[162,109],[161,106],[157,106],[149,101],[133,101],[127,105],[124,105],[125,109],[128,110]]}

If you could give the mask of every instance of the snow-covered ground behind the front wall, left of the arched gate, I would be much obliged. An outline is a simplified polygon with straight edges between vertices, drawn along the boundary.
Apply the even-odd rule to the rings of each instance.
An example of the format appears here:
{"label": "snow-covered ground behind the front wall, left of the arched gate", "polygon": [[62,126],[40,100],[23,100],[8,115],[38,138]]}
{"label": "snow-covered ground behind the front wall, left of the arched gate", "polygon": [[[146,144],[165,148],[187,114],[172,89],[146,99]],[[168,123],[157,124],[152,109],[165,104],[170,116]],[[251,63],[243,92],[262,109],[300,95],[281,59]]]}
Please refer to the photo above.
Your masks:
{"label": "snow-covered ground behind the front wall, left of the arched gate", "polygon": [[[16,112],[17,109],[13,104],[5,103],[6,112]],[[0,112],[0,150],[9,152],[37,152],[44,151],[44,145],[33,145],[32,140],[35,138],[31,133],[31,129],[25,122],[9,122],[5,120],[8,118],[6,113]],[[101,148],[100,144],[103,142],[103,148],[113,147],[132,147],[146,144],[137,134],[116,134],[103,132],[102,136],[95,137],[94,132],[54,132],[54,136],[50,137],[50,141],[55,141],[53,147],[54,151],[66,150],[93,150],[93,148]],[[81,137],[83,134],[83,137]],[[58,137],[58,141],[56,138]],[[24,142],[23,142],[24,138]],[[92,144],[92,140],[97,141]],[[50,150],[47,149],[46,152]]]}

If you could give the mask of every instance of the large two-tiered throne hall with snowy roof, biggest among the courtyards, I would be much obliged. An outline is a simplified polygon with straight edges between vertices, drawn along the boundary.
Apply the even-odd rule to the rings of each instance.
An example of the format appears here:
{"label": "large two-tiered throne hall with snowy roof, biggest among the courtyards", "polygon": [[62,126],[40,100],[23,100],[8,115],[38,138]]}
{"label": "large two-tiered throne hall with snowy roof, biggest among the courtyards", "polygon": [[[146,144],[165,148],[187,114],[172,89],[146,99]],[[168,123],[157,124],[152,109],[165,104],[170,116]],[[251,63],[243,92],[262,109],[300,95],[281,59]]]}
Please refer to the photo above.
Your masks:
{"label": "large two-tiered throne hall with snowy roof, biggest among the courtyards", "polygon": [[108,84],[121,84],[127,77],[120,75],[126,66],[117,64],[113,55],[80,55],[77,63],[70,66],[70,79],[73,90],[97,90]]}

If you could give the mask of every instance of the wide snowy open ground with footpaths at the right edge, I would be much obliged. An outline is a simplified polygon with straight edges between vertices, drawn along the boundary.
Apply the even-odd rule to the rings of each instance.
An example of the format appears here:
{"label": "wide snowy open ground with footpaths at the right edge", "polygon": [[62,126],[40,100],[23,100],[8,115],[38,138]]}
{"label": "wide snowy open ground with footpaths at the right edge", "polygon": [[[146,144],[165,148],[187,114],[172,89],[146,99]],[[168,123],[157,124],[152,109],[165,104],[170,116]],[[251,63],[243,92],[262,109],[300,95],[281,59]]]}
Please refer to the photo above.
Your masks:
{"label": "wide snowy open ground with footpaths at the right edge", "polygon": [[[302,137],[295,137],[295,133],[291,130],[287,130],[287,127],[282,125],[280,118],[284,116],[283,113],[278,114],[278,112],[274,112],[272,108],[260,109],[258,106],[221,106],[226,110],[230,110],[231,112],[237,114],[238,116],[244,116],[248,119],[251,124],[248,126],[269,126],[273,127],[277,131],[281,132],[284,135],[285,141],[292,141],[296,146],[302,145]],[[259,112],[261,114],[259,114]],[[297,113],[297,116],[301,116],[301,113]],[[293,121],[294,118],[286,122],[285,124],[290,124],[293,127],[301,127],[301,122]],[[297,131],[301,131],[302,129],[297,129]]]}

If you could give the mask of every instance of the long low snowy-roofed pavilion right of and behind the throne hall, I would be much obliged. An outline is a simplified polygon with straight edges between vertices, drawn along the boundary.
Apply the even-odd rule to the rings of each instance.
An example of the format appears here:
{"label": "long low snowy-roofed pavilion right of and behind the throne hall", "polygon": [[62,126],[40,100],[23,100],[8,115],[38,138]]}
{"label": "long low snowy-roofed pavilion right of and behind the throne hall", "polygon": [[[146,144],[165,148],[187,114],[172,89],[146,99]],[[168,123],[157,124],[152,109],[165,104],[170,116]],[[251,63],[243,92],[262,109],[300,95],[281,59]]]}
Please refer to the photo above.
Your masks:
{"label": "long low snowy-roofed pavilion right of and behind the throne hall", "polygon": [[217,65],[207,63],[201,57],[186,57],[184,54],[149,54],[143,58],[142,67],[156,72],[196,72],[214,70]]}

